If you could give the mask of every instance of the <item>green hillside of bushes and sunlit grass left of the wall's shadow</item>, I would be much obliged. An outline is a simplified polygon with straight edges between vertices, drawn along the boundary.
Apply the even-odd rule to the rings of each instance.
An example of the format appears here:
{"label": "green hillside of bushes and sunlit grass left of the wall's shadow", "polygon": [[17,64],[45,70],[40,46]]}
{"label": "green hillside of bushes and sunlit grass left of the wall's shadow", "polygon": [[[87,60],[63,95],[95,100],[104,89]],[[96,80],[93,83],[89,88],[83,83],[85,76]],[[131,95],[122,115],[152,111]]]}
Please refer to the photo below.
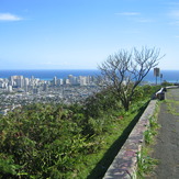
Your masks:
{"label": "green hillside of bushes and sunlit grass left of the wall's shadow", "polygon": [[128,112],[103,90],[83,104],[37,103],[0,116],[0,178],[87,178],[155,88],[138,87]]}

